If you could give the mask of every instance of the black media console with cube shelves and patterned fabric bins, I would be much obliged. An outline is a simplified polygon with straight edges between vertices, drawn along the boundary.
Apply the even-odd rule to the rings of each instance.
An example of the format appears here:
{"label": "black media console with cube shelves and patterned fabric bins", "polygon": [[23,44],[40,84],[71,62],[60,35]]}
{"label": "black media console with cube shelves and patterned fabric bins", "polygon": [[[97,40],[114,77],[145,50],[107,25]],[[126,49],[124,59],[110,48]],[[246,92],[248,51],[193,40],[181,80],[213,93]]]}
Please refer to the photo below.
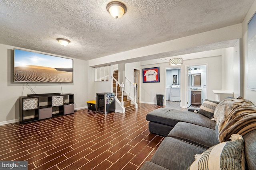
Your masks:
{"label": "black media console with cube shelves and patterned fabric bins", "polygon": [[20,123],[74,113],[74,94],[29,94],[20,96]]}

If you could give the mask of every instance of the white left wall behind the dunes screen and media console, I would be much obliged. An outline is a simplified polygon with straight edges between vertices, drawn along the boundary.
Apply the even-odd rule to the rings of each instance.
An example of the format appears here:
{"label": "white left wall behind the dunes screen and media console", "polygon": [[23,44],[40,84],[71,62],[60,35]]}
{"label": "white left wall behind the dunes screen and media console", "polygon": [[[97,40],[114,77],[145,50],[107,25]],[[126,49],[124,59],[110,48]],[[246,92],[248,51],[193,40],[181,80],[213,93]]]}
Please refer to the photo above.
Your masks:
{"label": "white left wall behind the dunes screen and media console", "polygon": [[[0,124],[12,123],[14,121],[19,121],[19,96],[22,95],[22,88],[24,83],[11,82],[11,72],[12,72],[12,56],[11,51],[16,49],[22,49],[18,47],[12,47],[8,45],[0,44]],[[28,50],[28,49],[24,49]],[[28,50],[31,51],[31,50]],[[36,51],[35,51],[36,52]],[[41,52],[40,52],[41,53]],[[49,54],[49,53],[44,53]],[[53,55],[53,54],[49,54]],[[64,57],[59,55],[54,55],[58,57]],[[68,58],[68,57],[66,57]],[[73,59],[74,69],[73,69],[73,83],[62,83],[63,93],[74,93],[75,108],[86,107],[87,100],[87,75],[86,72],[87,61]],[[61,92],[60,83],[29,83],[29,85],[34,88],[37,94],[42,93],[56,93]],[[24,87],[23,96],[27,94],[32,94],[31,90]]]}

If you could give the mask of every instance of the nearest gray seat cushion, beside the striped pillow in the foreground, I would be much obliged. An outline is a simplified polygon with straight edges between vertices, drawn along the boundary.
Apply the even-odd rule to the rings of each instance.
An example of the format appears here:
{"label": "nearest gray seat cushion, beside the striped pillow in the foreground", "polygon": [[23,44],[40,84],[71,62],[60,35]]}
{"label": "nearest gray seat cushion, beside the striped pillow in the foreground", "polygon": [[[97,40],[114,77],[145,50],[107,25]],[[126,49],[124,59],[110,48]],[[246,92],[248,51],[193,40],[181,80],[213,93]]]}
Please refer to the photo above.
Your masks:
{"label": "nearest gray seat cushion, beside the striped pillow in the foreground", "polygon": [[186,170],[194,162],[194,155],[205,150],[185,141],[166,137],[150,161],[170,170]]}

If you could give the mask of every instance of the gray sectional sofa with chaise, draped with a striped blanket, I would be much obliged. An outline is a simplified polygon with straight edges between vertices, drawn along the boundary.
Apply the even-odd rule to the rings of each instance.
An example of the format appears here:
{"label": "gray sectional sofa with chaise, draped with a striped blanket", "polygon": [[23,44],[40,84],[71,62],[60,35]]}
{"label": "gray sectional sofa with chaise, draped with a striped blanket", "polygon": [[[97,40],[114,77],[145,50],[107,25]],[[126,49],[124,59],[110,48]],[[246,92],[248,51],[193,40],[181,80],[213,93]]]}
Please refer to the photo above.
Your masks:
{"label": "gray sectional sofa with chaise, draped with a striped blanket", "polygon": [[[217,163],[214,164],[221,162],[220,167],[225,166],[220,169],[242,169],[244,166],[247,170],[256,170],[256,106],[248,100],[225,99],[213,111],[216,122],[209,116],[192,111],[159,108],[148,113],[149,131],[166,137],[141,170],[192,170],[193,165],[199,166],[199,163],[192,164],[196,154],[199,157],[197,160],[205,165],[198,169],[218,169],[213,168],[210,162],[215,160]],[[231,133],[242,134],[242,138],[238,135],[238,139],[234,139],[242,141],[239,153],[239,146],[234,144],[236,141],[229,139],[232,138]],[[228,148],[231,144],[232,147]],[[220,145],[225,146],[221,151],[216,149]],[[202,161],[206,153],[214,149],[218,150],[220,160],[207,157],[208,162]],[[224,162],[222,157],[225,155],[228,160],[234,158],[236,163]]]}

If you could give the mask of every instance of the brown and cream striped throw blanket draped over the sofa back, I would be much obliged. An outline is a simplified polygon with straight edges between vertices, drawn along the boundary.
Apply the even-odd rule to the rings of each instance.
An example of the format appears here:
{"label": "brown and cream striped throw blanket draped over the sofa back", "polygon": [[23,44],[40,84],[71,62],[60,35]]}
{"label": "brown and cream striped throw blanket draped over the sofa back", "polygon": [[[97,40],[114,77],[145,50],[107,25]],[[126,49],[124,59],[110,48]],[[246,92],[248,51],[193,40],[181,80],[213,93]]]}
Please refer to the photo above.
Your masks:
{"label": "brown and cream striped throw blanket draped over the sofa back", "polygon": [[228,141],[232,134],[245,135],[256,129],[256,106],[245,99],[225,99],[214,111],[219,141]]}

